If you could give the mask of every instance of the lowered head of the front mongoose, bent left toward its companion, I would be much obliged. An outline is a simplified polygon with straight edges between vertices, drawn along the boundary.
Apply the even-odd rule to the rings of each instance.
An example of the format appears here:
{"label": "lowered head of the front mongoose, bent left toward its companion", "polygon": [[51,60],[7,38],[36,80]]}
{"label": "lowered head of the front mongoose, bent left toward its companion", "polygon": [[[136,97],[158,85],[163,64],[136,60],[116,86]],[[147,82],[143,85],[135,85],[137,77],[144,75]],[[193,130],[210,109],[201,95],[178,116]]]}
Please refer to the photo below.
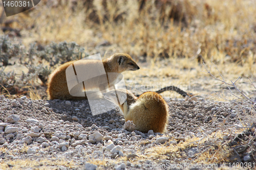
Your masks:
{"label": "lowered head of the front mongoose, bent left toward its companion", "polygon": [[[124,102],[127,101],[127,104],[130,105],[136,101],[136,96],[129,90],[126,89],[116,89],[103,93],[103,96],[106,100],[114,103],[117,106],[122,106]],[[118,100],[119,103],[118,103]]]}

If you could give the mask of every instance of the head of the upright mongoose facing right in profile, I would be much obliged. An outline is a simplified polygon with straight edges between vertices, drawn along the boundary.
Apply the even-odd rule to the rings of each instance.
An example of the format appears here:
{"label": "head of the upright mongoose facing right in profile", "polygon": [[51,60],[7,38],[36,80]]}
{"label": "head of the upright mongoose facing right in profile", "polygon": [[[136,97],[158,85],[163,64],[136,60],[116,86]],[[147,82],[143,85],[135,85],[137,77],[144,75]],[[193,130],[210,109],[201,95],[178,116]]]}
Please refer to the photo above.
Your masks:
{"label": "head of the upright mongoose facing right in profile", "polygon": [[117,72],[140,69],[129,54],[116,53],[111,58],[118,64]]}

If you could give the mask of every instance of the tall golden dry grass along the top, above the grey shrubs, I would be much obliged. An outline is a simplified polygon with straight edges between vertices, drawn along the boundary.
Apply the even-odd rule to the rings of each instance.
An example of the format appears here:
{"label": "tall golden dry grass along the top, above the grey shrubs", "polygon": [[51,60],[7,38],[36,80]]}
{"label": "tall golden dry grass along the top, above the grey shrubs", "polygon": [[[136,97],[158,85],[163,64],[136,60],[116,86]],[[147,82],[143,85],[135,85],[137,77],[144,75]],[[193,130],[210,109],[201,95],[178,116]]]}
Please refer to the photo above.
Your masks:
{"label": "tall golden dry grass along the top, above the grey shrubs", "polygon": [[[142,9],[142,1],[103,2],[77,1],[74,6],[69,1],[56,5],[42,1],[30,13],[7,19],[18,20],[13,27],[23,29],[25,44],[75,41],[94,54],[95,46],[107,40],[111,45],[104,50],[154,59],[191,58],[199,49],[204,58],[213,56],[220,63],[225,62],[226,55],[240,64],[251,62],[247,60],[250,54],[255,59],[253,1],[184,0],[178,5],[175,0],[166,4],[145,1]],[[169,18],[175,10],[181,11],[180,19]]]}

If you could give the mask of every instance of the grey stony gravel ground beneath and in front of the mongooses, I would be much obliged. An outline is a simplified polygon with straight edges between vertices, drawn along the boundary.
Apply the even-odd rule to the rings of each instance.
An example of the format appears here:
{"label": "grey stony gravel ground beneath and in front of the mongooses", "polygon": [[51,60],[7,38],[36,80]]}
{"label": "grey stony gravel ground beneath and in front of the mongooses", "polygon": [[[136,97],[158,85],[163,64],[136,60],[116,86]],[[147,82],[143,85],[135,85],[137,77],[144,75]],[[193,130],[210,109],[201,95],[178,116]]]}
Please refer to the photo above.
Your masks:
{"label": "grey stony gravel ground beneath and in front of the mongooses", "polygon": [[[241,120],[248,122],[251,114],[248,104],[236,101],[212,102],[201,98],[197,102],[183,99],[166,102],[169,124],[161,135],[124,130],[125,120],[118,108],[92,116],[86,100],[31,100],[26,96],[9,100],[0,96],[0,167],[162,169],[155,165],[191,162],[202,152],[193,145],[181,149],[182,143],[219,130],[224,134],[222,140],[227,142],[234,136],[223,128],[243,127]],[[170,147],[179,148],[179,153],[156,157],[154,152],[162,152],[161,147],[166,151]],[[240,158],[243,162],[252,160],[246,153]]]}

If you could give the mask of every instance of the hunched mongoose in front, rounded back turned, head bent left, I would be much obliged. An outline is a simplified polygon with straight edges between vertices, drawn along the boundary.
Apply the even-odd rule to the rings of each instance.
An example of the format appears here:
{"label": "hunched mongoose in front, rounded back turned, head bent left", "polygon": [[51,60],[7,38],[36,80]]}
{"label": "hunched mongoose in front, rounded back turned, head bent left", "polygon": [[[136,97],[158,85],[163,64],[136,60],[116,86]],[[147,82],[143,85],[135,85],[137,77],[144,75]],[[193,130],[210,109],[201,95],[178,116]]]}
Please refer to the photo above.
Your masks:
{"label": "hunched mongoose in front, rounded back turned, head bent left", "polygon": [[165,132],[168,123],[168,105],[160,94],[149,91],[137,98],[129,90],[117,89],[103,93],[103,95],[107,100],[119,106],[126,122],[133,120],[136,130],[143,133],[149,130],[155,133]]}

